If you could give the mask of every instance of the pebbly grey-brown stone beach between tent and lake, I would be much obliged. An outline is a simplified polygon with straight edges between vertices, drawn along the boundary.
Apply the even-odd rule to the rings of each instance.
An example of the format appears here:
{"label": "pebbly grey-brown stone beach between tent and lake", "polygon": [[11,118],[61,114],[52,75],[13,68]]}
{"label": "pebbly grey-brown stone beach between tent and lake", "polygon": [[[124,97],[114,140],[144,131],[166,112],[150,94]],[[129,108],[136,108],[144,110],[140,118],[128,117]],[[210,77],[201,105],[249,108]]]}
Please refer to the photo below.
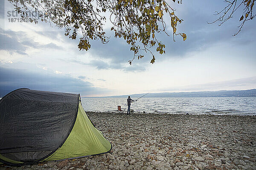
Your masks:
{"label": "pebbly grey-brown stone beach between tent and lake", "polygon": [[0,169],[256,170],[256,116],[87,114],[111,153]]}

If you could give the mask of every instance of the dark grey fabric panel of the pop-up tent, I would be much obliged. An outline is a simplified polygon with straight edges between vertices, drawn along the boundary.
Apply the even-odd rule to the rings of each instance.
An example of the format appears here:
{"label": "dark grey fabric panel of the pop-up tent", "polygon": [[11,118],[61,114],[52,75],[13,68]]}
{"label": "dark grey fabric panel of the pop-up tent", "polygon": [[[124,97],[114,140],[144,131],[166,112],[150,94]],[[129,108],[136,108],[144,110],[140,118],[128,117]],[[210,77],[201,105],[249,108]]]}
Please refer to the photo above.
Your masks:
{"label": "dark grey fabric panel of the pop-up tent", "polygon": [[54,153],[76,122],[79,99],[79,94],[27,88],[4,96],[0,100],[0,154],[31,163]]}

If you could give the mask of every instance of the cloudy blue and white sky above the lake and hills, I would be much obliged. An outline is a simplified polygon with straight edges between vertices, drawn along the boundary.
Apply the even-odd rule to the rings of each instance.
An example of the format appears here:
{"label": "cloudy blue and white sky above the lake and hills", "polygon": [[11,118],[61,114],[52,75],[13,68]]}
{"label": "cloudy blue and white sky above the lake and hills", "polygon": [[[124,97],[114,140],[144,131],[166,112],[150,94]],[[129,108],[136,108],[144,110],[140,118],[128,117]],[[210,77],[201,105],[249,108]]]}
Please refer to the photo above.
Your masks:
{"label": "cloudy blue and white sky above the lake and hills", "polygon": [[[256,88],[256,22],[248,22],[235,37],[241,13],[221,27],[215,20],[221,0],[183,0],[170,4],[184,22],[178,30],[187,40],[160,35],[166,54],[128,60],[133,53],[121,39],[111,36],[106,45],[91,42],[79,51],[78,41],[65,30],[47,23],[10,23],[12,5],[1,0],[0,96],[17,88],[80,93],[81,96],[112,96],[148,92],[246,90]],[[240,11],[241,12],[241,11]],[[166,20],[168,30],[170,21]],[[169,23],[169,24],[168,24]]]}

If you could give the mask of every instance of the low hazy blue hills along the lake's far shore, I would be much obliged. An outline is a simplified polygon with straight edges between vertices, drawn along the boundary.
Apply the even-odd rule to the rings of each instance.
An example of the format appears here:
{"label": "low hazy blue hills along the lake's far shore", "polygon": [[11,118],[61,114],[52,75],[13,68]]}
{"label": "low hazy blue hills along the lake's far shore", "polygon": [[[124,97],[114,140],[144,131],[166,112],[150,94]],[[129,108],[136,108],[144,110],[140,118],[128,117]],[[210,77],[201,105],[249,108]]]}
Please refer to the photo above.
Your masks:
{"label": "low hazy blue hills along the lake's far shore", "polygon": [[[128,97],[132,99],[139,98],[144,94],[129,94],[122,96],[105,97]],[[197,91],[197,92],[178,92],[178,93],[150,93],[145,97],[256,97],[256,89],[241,91]]]}

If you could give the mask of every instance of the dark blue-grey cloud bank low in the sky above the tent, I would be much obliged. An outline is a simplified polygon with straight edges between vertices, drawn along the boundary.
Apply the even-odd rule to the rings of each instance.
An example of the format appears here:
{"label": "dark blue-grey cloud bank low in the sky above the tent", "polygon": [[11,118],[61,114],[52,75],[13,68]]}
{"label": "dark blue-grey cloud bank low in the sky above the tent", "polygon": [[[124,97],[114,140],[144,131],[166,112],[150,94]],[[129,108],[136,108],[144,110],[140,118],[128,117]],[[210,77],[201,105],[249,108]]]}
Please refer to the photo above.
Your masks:
{"label": "dark blue-grey cloud bank low in the sky above the tent", "polygon": [[[20,68],[16,68],[17,66],[20,66]],[[49,70],[42,71],[41,68],[28,63],[1,64],[0,73],[0,96],[4,96],[17,88],[80,93],[83,95],[105,91],[105,89],[93,87],[90,82],[66,74],[56,74]]]}

